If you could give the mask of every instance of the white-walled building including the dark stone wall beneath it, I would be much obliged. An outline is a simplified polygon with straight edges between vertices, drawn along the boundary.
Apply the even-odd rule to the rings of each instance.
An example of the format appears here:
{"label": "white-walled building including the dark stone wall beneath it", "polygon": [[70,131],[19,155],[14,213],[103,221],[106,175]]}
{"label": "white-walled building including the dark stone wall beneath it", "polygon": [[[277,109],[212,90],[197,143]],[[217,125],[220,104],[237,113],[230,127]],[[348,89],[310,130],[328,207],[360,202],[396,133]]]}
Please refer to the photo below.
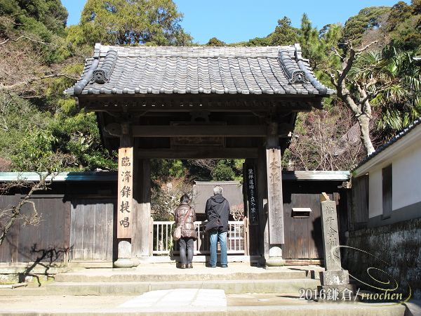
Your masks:
{"label": "white-walled building including the dark stone wall beneath it", "polygon": [[373,281],[368,267],[387,269],[397,291],[416,299],[421,298],[420,161],[421,118],[354,169],[343,260],[359,279]]}

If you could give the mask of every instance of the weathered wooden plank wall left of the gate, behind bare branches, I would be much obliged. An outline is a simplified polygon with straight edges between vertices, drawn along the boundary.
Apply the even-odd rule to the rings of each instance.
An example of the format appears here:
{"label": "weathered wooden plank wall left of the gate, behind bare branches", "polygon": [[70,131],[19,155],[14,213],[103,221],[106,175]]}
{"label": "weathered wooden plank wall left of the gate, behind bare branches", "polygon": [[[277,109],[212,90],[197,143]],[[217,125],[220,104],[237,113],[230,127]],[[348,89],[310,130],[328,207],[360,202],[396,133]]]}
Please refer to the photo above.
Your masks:
{"label": "weathered wooden plank wall left of the gate, behind bare branches", "polygon": [[[22,193],[0,196],[1,209],[17,204]],[[0,263],[113,261],[116,183],[53,183],[43,193],[31,199],[39,226],[15,223],[0,246]],[[31,209],[26,204],[22,212]]]}

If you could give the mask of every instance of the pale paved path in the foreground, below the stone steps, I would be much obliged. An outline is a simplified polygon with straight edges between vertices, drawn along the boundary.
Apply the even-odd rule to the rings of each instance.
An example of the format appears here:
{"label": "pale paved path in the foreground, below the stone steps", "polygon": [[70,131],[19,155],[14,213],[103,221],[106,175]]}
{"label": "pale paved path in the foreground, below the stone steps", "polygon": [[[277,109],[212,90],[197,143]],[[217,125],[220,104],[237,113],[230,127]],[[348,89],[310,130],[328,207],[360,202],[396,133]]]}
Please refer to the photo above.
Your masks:
{"label": "pale paved path in the foreground, below the stone steps", "polygon": [[413,311],[405,314],[402,304],[318,303],[293,294],[225,294],[218,289],[171,289],[140,296],[0,296],[1,316],[417,315]]}

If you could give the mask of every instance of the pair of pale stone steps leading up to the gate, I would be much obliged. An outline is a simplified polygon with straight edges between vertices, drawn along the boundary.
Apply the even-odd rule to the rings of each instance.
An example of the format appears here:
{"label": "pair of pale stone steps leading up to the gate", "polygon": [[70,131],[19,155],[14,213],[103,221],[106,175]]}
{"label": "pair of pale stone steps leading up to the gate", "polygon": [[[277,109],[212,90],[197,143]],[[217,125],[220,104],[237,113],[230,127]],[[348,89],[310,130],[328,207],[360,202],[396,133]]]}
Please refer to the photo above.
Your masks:
{"label": "pair of pale stone steps leading up to the gate", "polygon": [[320,285],[320,267],[258,268],[230,264],[228,268],[193,269],[176,265],[143,265],[126,269],[81,269],[55,275],[50,294],[143,294],[167,289],[223,289],[225,293],[295,293]]}

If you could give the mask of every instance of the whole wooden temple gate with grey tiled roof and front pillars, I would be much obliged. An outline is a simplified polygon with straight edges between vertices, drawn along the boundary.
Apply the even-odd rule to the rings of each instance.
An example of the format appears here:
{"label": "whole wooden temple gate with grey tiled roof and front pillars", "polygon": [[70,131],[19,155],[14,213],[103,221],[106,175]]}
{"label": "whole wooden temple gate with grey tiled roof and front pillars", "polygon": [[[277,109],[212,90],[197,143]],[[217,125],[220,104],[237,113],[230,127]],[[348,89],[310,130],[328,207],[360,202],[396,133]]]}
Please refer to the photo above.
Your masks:
{"label": "whole wooden temple gate with grey tiled roof and front pillars", "polygon": [[97,44],[65,93],[97,114],[105,147],[119,150],[116,266],[151,253],[150,159],[246,159],[257,188],[245,197],[248,251],[283,265],[281,155],[298,112],[321,108],[334,92],[317,81],[298,44]]}

